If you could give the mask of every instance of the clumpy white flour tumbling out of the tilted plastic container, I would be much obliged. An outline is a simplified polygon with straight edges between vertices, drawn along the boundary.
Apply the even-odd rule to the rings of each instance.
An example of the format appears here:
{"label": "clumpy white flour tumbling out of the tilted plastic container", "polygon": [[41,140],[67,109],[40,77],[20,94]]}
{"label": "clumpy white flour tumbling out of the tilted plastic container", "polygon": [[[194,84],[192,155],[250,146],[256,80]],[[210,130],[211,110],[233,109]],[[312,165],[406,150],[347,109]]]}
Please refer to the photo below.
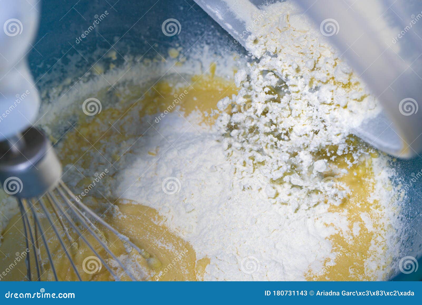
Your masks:
{"label": "clumpy white flour tumbling out of the tilted plastic container", "polygon": [[246,43],[252,61],[235,76],[241,89],[217,105],[227,154],[241,151],[238,170],[265,173],[273,202],[338,205],[349,190],[335,180],[345,171],[335,161],[351,166],[366,153],[350,135],[379,108],[291,3],[264,9]]}

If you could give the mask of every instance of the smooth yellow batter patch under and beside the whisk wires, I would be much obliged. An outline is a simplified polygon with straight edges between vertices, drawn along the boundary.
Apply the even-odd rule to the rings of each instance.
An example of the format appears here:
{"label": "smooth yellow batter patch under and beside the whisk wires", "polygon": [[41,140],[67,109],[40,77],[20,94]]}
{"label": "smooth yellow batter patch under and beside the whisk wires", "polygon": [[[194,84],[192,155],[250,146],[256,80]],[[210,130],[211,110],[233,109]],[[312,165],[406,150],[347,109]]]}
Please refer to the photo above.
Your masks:
{"label": "smooth yellow batter patch under and beside the whisk wires", "polygon": [[[97,200],[93,197],[89,197],[85,200],[90,205],[98,205]],[[105,220],[117,229],[119,232],[124,232],[130,240],[137,246],[141,247],[144,251],[142,255],[136,253],[133,249],[133,257],[135,259],[130,260],[130,264],[137,263],[146,270],[151,270],[151,273],[147,274],[143,280],[154,280],[159,279],[162,281],[195,281],[195,251],[189,243],[185,242],[177,235],[168,231],[159,222],[162,221],[160,214],[154,209],[145,205],[133,204],[127,200],[120,200],[116,203],[116,208],[119,209],[122,214],[121,217],[112,217],[111,213],[106,213]],[[43,228],[49,228],[49,222],[47,219],[42,221]],[[57,225],[58,228],[61,227]],[[123,243],[108,230],[102,230],[105,239],[108,242],[110,249],[113,253],[119,257],[119,255],[126,254]],[[3,235],[2,251],[7,251],[10,256],[3,258],[1,265],[9,266],[14,262],[15,252],[21,252],[24,249],[25,241],[22,235],[22,221],[20,214],[16,215],[11,219],[8,227],[5,229]],[[84,259],[89,256],[95,256],[95,254],[87,247],[83,240],[76,240],[73,246],[67,242],[64,234],[63,238],[68,247],[68,251],[73,257],[75,265],[78,267],[79,274],[84,281],[111,281],[113,278],[107,269],[102,266],[100,270],[95,273],[84,272],[83,262]],[[72,235],[75,236],[75,235]],[[89,233],[85,233],[84,237],[94,245],[96,251],[102,256],[107,257],[108,254],[103,248],[100,247],[99,243]],[[77,277],[74,273],[70,262],[65,256],[63,249],[58,243],[57,238],[54,236],[53,230],[46,230],[46,238],[49,240],[49,250],[53,253],[54,267],[56,268],[59,281],[76,281]],[[157,243],[160,240],[160,244]],[[41,242],[41,239],[40,239]],[[164,246],[166,245],[166,246]],[[174,251],[170,251],[172,248]],[[41,256],[44,257],[44,272],[42,275],[43,280],[54,280],[53,275],[48,270],[50,269],[45,248],[41,246]],[[32,256],[33,258],[33,256]],[[169,265],[171,264],[171,267]],[[35,274],[35,262],[31,262],[32,272]],[[201,275],[200,263],[196,266],[198,270],[198,276]],[[168,271],[158,276],[159,270],[167,269]],[[46,271],[47,270],[47,271]],[[87,269],[89,271],[89,269]],[[122,270],[114,268],[116,274],[120,277],[120,280],[129,280],[126,274],[122,274]],[[203,272],[203,271],[202,271]],[[26,267],[24,260],[20,260],[17,265],[9,272],[3,280],[5,281],[21,281],[26,275]],[[32,275],[34,276],[34,275]]]}

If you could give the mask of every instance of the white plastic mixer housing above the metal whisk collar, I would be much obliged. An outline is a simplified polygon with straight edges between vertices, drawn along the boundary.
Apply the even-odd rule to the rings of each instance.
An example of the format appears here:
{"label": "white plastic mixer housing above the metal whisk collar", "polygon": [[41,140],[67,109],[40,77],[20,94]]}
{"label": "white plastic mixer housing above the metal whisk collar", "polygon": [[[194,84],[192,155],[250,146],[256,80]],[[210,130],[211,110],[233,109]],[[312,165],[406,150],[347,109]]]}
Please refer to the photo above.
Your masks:
{"label": "white plastic mixer housing above the metal whisk collar", "polygon": [[40,98],[27,57],[38,29],[36,0],[3,0],[0,9],[0,141],[30,127]]}

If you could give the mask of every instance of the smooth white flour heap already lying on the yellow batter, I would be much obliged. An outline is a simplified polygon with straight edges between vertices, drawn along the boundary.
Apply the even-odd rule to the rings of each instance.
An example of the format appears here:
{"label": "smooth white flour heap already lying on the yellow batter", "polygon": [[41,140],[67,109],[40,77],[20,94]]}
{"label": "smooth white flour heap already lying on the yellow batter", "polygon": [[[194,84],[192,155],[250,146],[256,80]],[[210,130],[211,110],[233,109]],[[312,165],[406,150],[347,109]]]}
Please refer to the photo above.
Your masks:
{"label": "smooth white flour heap already lying on the yellow batter", "polygon": [[[141,129],[148,127],[145,122]],[[100,189],[160,211],[165,224],[192,243],[197,259],[211,259],[204,280],[303,280],[308,268],[323,267],[332,251],[325,238],[338,230],[326,224],[345,223],[346,216],[328,213],[327,205],[297,213],[273,205],[262,174],[235,174],[215,141],[218,135],[194,126],[198,133],[177,113],[154,127],[157,131],[138,141],[135,154],[125,155],[127,169]],[[157,147],[159,160],[148,155]],[[174,194],[163,192],[167,177],[175,177],[164,186],[173,190],[173,181]]]}

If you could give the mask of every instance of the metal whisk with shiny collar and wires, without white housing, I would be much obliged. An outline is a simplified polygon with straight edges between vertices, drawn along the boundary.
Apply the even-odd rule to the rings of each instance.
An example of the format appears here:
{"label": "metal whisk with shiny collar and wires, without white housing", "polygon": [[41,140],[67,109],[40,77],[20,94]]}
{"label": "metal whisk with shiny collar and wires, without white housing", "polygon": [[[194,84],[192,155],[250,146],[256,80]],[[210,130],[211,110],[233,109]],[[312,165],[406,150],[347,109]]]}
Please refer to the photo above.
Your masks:
{"label": "metal whisk with shiny collar and wires, without white housing", "polygon": [[[125,248],[134,248],[141,255],[145,251],[138,248],[127,236],[120,234],[87,205],[84,205],[63,183],[60,162],[54,148],[41,130],[31,127],[22,135],[16,135],[14,138],[0,142],[0,156],[2,156],[0,157],[0,181],[8,194],[18,198],[22,214],[28,251],[25,258],[28,280],[40,281],[44,273],[43,257],[41,257],[40,250],[41,242],[45,247],[54,280],[58,280],[53,255],[45,234],[46,230],[43,229],[40,221],[40,217],[43,215],[48,220],[50,228],[54,231],[79,281],[82,280],[81,275],[70,253],[72,245],[79,239],[87,244],[116,281],[119,281],[120,278],[92,243],[87,240],[84,236],[85,232],[89,232],[100,247],[106,251],[109,258],[113,259],[131,280],[136,281],[133,273],[129,270],[130,266],[125,266],[107,246],[107,241],[98,225],[113,232],[123,242]],[[76,235],[76,240],[71,236],[70,230],[72,230],[72,235]],[[65,237],[62,238],[60,231]],[[65,240],[68,241],[69,246]],[[31,271],[31,253],[34,256],[36,275],[33,275]]]}

